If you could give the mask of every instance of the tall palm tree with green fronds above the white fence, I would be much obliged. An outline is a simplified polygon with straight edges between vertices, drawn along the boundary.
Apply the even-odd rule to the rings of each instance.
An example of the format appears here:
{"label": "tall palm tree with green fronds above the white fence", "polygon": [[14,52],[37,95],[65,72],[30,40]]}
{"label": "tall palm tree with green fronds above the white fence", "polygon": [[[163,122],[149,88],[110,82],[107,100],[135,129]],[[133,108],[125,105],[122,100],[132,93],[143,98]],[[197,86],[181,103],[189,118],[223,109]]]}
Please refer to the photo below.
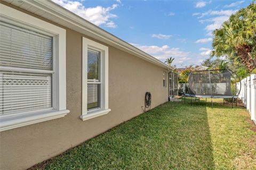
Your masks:
{"label": "tall palm tree with green fronds above the white fence", "polygon": [[241,62],[251,72],[256,67],[256,4],[252,2],[232,14],[220,29],[213,32],[211,56],[227,56]]}

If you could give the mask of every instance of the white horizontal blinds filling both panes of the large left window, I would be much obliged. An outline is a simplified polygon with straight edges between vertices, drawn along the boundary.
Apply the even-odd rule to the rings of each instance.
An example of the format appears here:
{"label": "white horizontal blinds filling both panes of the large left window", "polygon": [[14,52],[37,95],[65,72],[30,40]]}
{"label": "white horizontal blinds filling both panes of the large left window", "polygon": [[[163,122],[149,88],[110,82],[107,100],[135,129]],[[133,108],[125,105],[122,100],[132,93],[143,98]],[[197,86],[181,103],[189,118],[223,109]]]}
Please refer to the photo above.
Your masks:
{"label": "white horizontal blinds filling both panes of the large left window", "polygon": [[12,68],[0,71],[0,114],[51,108],[53,77],[43,71],[52,70],[53,38],[4,22],[0,31],[0,66]]}

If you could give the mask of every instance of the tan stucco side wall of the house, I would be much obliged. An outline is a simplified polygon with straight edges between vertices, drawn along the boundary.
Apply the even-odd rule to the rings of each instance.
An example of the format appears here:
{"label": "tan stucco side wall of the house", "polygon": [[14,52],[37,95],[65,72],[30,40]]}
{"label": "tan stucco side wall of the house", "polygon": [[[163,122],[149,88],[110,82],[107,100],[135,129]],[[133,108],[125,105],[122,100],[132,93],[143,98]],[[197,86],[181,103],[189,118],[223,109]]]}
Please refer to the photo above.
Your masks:
{"label": "tan stucco side wall of the house", "polygon": [[79,118],[83,35],[66,30],[67,109],[70,113],[63,118],[1,132],[0,169],[26,169],[141,114],[146,91],[152,94],[152,108],[167,101],[168,91],[163,87],[163,71],[167,70],[108,46],[111,112],[83,122]]}

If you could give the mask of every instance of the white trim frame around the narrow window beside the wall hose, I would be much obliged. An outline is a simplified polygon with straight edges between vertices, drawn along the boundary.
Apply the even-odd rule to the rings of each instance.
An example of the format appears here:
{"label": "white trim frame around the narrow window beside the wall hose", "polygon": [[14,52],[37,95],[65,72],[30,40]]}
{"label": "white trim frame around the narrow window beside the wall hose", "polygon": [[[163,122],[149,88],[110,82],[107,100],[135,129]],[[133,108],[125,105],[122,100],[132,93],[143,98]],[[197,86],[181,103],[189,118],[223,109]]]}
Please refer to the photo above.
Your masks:
{"label": "white trim frame around the narrow window beside the wall hose", "polygon": [[[87,49],[93,48],[101,52],[101,108],[87,111]],[[83,66],[82,66],[82,115],[83,121],[94,117],[108,114],[111,109],[108,108],[108,47],[93,40],[83,37]]]}

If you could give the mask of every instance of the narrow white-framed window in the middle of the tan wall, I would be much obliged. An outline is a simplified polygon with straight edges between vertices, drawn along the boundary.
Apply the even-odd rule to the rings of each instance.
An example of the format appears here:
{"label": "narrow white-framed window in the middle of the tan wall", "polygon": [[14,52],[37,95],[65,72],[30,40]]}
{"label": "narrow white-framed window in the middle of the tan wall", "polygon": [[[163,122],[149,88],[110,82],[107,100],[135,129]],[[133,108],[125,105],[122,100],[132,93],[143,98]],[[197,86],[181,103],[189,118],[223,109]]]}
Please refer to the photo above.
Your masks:
{"label": "narrow white-framed window in the middle of the tan wall", "polygon": [[83,121],[110,112],[108,108],[108,47],[83,38]]}

